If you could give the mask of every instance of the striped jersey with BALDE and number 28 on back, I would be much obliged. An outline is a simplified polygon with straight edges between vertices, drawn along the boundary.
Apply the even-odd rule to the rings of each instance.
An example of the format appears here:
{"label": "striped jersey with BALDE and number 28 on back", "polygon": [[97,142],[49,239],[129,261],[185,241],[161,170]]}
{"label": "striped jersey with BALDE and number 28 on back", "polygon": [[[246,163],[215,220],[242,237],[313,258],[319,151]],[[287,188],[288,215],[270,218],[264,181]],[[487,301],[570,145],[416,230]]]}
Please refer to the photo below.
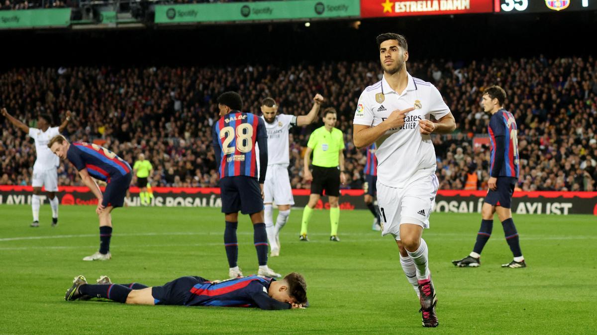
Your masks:
{"label": "striped jersey with BALDE and number 28 on back", "polygon": [[[241,111],[220,117],[213,128],[213,145],[220,178],[257,178],[257,142],[259,150],[267,153],[267,132],[261,117]],[[262,144],[264,147],[261,147]]]}

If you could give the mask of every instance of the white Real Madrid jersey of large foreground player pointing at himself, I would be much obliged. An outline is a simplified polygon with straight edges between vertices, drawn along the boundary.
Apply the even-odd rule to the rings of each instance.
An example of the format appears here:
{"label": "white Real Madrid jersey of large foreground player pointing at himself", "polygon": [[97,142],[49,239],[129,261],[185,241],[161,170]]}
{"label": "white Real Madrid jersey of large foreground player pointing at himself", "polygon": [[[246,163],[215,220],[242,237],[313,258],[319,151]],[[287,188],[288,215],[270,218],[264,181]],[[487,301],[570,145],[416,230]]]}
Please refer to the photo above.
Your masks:
{"label": "white Real Madrid jersey of large foreground player pointing at himself", "polygon": [[419,131],[419,120],[433,115],[441,119],[450,109],[435,86],[408,74],[408,86],[393,91],[383,77],[361,93],[355,125],[377,126],[395,110],[414,107],[405,114],[404,125],[390,129],[377,140],[377,181],[389,187],[404,188],[413,181],[435,173],[435,150],[430,135]]}

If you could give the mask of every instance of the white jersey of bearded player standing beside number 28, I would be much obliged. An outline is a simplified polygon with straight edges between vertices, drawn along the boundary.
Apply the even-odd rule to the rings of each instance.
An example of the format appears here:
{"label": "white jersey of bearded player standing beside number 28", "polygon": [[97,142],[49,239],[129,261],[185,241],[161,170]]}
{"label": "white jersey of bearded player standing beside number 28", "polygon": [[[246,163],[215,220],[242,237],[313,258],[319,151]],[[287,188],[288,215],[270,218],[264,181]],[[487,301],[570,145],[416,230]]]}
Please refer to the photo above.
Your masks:
{"label": "white jersey of bearded player standing beside number 28", "polygon": [[[264,117],[261,118],[265,121]],[[267,131],[267,165],[290,163],[288,129],[296,125],[297,117],[288,114],[278,114],[272,123],[265,122]]]}

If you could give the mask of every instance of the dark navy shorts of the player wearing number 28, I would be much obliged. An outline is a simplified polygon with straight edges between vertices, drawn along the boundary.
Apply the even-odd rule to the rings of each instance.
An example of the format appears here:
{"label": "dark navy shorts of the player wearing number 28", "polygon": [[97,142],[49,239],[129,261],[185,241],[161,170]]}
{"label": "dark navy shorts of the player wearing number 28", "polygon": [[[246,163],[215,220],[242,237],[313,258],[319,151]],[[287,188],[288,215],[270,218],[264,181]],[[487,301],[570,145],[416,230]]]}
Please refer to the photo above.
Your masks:
{"label": "dark navy shorts of the player wearing number 28", "polygon": [[232,176],[220,179],[222,213],[258,213],[263,210],[261,187],[257,178]]}

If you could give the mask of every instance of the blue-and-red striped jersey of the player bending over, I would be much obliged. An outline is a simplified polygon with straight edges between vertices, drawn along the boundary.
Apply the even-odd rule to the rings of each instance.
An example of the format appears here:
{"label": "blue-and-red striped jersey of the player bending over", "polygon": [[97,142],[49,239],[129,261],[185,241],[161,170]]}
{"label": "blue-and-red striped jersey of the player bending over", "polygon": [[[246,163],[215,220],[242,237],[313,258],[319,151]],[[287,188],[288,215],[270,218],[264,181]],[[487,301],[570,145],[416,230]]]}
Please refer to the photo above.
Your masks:
{"label": "blue-and-red striped jersey of the player bending over", "polygon": [[66,157],[77,170],[87,169],[93,178],[105,182],[131,172],[131,166],[125,160],[116,156],[112,151],[93,143],[71,143]]}

